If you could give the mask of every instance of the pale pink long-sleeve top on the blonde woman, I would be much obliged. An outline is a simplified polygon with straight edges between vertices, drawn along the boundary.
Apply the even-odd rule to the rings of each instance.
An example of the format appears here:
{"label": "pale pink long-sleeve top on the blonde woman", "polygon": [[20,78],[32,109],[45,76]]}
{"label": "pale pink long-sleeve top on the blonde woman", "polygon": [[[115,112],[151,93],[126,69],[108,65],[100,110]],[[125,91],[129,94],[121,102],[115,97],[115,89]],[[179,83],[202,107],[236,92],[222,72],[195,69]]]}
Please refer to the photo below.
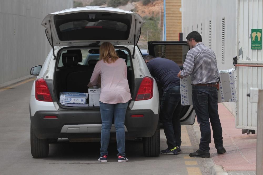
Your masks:
{"label": "pale pink long-sleeve top on the blonde woman", "polygon": [[117,59],[114,63],[103,60],[97,62],[90,83],[96,85],[98,77],[101,77],[101,92],[99,100],[103,103],[126,103],[131,99],[127,66],[123,59]]}

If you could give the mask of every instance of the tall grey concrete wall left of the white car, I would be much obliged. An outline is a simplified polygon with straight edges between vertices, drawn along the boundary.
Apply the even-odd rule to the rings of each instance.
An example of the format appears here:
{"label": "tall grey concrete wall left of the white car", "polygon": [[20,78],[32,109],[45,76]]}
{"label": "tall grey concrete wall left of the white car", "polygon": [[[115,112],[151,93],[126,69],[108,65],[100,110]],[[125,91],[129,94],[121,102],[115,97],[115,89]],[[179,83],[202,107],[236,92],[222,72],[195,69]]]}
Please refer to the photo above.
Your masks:
{"label": "tall grey concrete wall left of the white car", "polygon": [[0,1],[0,87],[28,77],[32,66],[44,63],[51,46],[43,18],[72,7],[73,0]]}

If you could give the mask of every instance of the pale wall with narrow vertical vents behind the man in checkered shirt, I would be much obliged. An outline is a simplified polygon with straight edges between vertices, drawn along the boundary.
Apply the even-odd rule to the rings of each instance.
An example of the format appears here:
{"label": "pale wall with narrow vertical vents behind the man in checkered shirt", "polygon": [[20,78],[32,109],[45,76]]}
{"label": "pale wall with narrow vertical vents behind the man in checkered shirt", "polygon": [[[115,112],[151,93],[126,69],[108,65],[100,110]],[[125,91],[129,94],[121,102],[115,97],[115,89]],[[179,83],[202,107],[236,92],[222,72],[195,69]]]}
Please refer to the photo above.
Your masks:
{"label": "pale wall with narrow vertical vents behind the man in checkered shirt", "polygon": [[[236,56],[236,1],[235,0],[182,0],[183,38],[191,31],[198,31],[203,43],[215,52],[219,70],[234,68],[232,58]],[[225,43],[222,47],[222,18],[225,18]],[[211,37],[209,21],[211,20]],[[198,25],[198,29],[197,29]],[[201,31],[202,28],[202,31]],[[211,38],[211,39],[209,39]],[[222,63],[222,52],[224,62]],[[235,102],[224,103],[235,114]]]}

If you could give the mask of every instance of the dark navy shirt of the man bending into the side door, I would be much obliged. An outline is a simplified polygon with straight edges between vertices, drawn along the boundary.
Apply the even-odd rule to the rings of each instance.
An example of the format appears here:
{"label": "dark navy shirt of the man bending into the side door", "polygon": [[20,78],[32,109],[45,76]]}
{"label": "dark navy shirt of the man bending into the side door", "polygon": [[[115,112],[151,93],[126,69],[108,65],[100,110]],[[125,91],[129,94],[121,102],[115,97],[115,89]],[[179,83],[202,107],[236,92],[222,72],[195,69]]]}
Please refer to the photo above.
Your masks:
{"label": "dark navy shirt of the man bending into the side door", "polygon": [[164,91],[180,86],[180,78],[177,77],[177,74],[181,69],[174,61],[157,57],[146,65],[155,80],[163,85]]}

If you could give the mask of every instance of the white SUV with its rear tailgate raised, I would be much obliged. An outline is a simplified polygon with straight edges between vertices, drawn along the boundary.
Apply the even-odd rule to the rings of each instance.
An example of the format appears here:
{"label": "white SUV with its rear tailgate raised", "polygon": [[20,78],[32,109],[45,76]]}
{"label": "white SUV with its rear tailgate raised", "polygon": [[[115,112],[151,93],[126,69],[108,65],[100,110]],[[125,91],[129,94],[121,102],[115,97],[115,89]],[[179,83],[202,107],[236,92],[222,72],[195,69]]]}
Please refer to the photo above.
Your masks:
{"label": "white SUV with its rear tailgate raised", "polygon": [[[96,6],[66,9],[44,18],[42,25],[52,50],[43,67],[34,66],[30,71],[38,78],[33,83],[30,99],[33,157],[48,156],[49,143],[58,138],[99,139],[102,124],[99,107],[63,106],[59,103],[59,93],[88,92],[99,46],[105,41],[112,43],[127,63],[132,99],[125,118],[126,138],[142,138],[144,155],[159,155],[162,90],[161,87],[158,90],[137,46],[143,23],[134,12]],[[188,51],[186,42],[160,41],[149,42],[149,54],[165,57],[166,44],[181,48],[182,54],[175,57],[183,59],[183,50]],[[95,57],[85,61],[88,55]],[[194,119],[193,107],[184,107],[181,124],[193,124]],[[114,138],[114,125],[111,132]]]}

